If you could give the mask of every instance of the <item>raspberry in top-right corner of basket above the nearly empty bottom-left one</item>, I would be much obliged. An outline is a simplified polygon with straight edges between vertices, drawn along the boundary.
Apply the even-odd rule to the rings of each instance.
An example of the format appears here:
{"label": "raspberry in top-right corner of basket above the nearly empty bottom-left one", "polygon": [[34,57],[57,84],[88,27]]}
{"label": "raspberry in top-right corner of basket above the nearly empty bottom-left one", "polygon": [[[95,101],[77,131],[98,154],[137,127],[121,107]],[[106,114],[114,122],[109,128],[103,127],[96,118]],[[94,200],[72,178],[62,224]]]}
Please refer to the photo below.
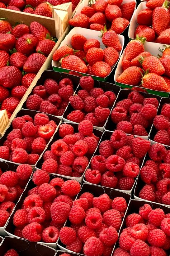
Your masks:
{"label": "raspberry in top-right corner of basket above the nearly empty bottom-left one", "polygon": [[80,192],[80,183],[77,180],[66,180],[61,186],[61,191],[67,196],[74,197]]}

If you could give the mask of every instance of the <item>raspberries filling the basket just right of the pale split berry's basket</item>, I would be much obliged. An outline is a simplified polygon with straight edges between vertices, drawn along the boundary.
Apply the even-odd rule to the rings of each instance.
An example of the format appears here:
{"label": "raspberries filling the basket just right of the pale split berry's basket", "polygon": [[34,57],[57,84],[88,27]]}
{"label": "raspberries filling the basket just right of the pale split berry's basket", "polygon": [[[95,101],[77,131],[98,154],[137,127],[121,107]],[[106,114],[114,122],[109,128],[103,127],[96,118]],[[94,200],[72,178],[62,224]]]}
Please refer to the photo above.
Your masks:
{"label": "raspberries filling the basket just right of the pale split berry's basket", "polygon": [[74,127],[68,123],[60,125],[57,131],[59,139],[43,154],[42,170],[71,177],[83,175],[99,137],[93,133],[93,124],[88,120],[79,123],[78,131],[75,133]]}

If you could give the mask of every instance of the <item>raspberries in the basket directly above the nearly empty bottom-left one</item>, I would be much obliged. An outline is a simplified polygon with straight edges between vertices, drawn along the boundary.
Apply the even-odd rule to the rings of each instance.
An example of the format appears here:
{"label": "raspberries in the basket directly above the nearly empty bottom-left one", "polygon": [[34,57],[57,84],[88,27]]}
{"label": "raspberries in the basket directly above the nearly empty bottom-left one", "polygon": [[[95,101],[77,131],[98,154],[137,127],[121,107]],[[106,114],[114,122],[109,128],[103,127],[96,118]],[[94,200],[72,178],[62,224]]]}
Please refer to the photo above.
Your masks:
{"label": "raspberries in the basket directly above the nearly empty bottom-left one", "polygon": [[37,186],[28,191],[22,208],[14,212],[14,235],[30,242],[56,243],[80,183],[59,177],[50,180],[44,170],[34,172],[32,180]]}

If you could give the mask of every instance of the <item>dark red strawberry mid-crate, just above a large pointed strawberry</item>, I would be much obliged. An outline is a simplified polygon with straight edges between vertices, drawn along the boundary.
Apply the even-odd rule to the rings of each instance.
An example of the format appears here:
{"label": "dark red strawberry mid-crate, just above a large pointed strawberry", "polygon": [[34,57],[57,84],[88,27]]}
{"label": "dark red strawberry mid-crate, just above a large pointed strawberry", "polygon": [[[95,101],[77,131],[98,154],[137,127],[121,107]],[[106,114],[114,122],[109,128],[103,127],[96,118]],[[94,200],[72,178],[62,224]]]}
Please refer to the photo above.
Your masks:
{"label": "dark red strawberry mid-crate, just above a large pointed strawberry", "polygon": [[38,39],[32,34],[25,34],[16,40],[15,48],[25,55],[31,54],[38,44]]}

